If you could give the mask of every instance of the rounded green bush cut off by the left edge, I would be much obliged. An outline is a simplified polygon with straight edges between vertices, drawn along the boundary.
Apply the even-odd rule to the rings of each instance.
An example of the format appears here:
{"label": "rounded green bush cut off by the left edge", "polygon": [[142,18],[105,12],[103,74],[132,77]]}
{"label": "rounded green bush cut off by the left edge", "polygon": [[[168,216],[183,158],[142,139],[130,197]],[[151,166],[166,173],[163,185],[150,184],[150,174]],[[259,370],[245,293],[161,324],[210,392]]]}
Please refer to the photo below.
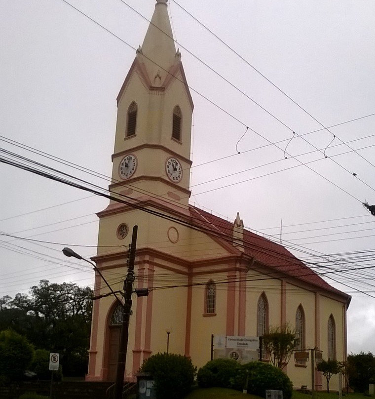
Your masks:
{"label": "rounded green bush cut off by the left edge", "polygon": [[34,357],[34,347],[26,337],[12,331],[0,331],[0,375],[6,380],[22,379]]}

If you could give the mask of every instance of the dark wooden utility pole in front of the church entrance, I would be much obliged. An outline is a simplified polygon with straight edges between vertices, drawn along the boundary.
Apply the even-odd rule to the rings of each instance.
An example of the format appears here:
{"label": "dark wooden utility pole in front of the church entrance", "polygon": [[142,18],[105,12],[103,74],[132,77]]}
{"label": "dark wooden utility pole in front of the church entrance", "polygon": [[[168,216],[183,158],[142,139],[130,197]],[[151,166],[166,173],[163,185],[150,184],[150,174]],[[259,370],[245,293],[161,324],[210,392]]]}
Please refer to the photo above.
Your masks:
{"label": "dark wooden utility pole in front of the church entrance", "polygon": [[137,244],[137,232],[138,226],[133,227],[132,242],[129,249],[128,257],[128,274],[124,280],[124,312],[123,320],[121,325],[120,343],[118,349],[118,361],[117,361],[117,374],[116,374],[116,385],[114,391],[115,399],[122,399],[122,388],[124,386],[124,373],[126,363],[126,353],[128,349],[128,338],[129,338],[129,319],[132,307],[132,292],[134,282],[134,260],[135,260],[135,248]]}

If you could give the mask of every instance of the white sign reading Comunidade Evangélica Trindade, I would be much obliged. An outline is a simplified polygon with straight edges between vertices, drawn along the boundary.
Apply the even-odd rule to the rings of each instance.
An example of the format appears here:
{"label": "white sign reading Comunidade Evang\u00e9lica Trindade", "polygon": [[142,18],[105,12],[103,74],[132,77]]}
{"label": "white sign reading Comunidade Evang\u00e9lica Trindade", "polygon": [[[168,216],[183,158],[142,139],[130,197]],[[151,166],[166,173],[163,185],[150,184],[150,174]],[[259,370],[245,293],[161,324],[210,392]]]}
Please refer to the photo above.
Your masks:
{"label": "white sign reading Comunidade Evang\u00e9lica Trindade", "polygon": [[240,363],[259,360],[259,338],[214,335],[213,359],[234,359]]}

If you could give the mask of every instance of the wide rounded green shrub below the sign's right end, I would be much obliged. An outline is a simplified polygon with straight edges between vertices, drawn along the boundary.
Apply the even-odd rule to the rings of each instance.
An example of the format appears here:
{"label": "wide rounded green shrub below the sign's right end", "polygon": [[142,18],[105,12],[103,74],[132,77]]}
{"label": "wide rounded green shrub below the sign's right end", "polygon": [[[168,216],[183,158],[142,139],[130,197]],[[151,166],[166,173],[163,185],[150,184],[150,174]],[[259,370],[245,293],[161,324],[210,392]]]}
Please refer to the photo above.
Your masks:
{"label": "wide rounded green shrub below the sign's right end", "polygon": [[291,399],[293,384],[279,368],[262,361],[243,364],[240,372],[232,379],[233,388],[241,391],[248,375],[247,392],[265,398],[267,389],[283,391],[283,399]]}

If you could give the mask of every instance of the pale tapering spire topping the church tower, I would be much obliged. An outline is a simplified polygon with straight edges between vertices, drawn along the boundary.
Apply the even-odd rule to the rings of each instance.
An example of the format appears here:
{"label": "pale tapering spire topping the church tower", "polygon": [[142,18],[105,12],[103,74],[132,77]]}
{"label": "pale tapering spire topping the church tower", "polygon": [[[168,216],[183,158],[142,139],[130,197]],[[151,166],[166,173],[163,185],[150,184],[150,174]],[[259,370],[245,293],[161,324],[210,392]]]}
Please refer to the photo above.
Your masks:
{"label": "pale tapering spire topping the church tower", "polygon": [[176,62],[176,47],[169,22],[168,0],[156,0],[149,29],[143,41],[141,54],[151,84],[160,86],[167,77],[167,72]]}

